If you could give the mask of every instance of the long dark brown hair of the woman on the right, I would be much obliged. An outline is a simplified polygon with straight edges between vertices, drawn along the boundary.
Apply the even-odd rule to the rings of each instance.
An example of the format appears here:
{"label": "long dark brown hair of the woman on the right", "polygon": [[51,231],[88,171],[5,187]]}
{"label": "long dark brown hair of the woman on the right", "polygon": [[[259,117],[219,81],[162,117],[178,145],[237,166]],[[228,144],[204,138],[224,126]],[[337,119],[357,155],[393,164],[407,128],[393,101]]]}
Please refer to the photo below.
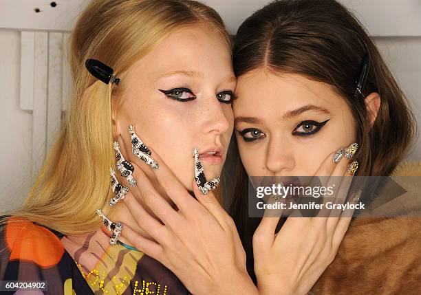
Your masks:
{"label": "long dark brown hair of the woman on the right", "polygon": [[[355,96],[365,55],[369,75]],[[300,74],[331,85],[352,111],[360,149],[358,175],[390,175],[413,143],[415,120],[409,104],[363,25],[334,0],[274,1],[241,24],[233,50],[237,76],[264,68],[274,74]],[[370,127],[365,96],[380,94],[380,109]],[[247,175],[238,164],[231,215],[237,223],[252,277],[252,233],[259,219],[247,216]]]}

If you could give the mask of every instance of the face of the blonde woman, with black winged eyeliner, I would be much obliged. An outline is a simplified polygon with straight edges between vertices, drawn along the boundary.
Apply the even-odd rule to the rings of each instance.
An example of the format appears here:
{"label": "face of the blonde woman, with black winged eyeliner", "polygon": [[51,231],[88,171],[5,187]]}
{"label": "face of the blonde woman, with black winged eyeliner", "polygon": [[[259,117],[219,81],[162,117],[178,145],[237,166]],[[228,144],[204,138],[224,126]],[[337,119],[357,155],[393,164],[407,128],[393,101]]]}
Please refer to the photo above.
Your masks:
{"label": "face of the blonde woman, with black winged eyeliner", "polygon": [[153,179],[151,169],[131,154],[127,130],[133,124],[188,190],[194,147],[207,179],[219,176],[233,133],[235,84],[228,45],[212,28],[190,25],[171,33],[122,76],[125,94],[114,109],[123,153]]}

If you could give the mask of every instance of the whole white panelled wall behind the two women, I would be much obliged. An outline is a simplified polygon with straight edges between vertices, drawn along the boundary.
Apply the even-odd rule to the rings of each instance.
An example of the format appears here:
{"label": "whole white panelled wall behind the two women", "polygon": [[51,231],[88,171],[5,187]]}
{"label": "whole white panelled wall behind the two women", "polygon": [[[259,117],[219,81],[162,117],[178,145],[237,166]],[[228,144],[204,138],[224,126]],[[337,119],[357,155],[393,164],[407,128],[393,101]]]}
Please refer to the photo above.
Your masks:
{"label": "whole white panelled wall behind the two women", "polygon": [[[28,193],[60,125],[68,92],[63,41],[86,1],[0,0],[0,212]],[[268,0],[208,0],[231,33]],[[421,1],[343,0],[374,36],[415,106],[421,129]],[[36,14],[34,8],[42,12]],[[57,32],[60,31],[60,32]],[[22,53],[22,54],[21,54]],[[421,142],[409,155],[421,159]]]}

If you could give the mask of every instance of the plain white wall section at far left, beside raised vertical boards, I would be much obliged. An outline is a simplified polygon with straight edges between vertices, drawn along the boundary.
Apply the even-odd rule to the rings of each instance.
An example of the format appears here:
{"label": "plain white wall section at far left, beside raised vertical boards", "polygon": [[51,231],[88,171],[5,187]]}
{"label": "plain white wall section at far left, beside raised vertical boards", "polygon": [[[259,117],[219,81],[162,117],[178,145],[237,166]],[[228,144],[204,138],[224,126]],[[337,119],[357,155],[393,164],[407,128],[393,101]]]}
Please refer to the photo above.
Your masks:
{"label": "plain white wall section at far left, beside raised vertical boards", "polygon": [[32,112],[19,108],[20,43],[19,32],[0,30],[1,209],[19,205],[32,182]]}

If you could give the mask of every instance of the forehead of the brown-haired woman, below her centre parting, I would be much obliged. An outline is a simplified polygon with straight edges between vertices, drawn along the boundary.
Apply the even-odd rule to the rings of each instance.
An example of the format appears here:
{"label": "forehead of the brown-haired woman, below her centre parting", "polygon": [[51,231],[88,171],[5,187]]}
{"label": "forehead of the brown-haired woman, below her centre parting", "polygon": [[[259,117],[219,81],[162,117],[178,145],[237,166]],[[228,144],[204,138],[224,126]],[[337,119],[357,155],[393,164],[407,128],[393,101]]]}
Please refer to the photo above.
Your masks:
{"label": "forehead of the brown-haired woman, below her centre parting", "polygon": [[303,105],[334,109],[345,104],[330,85],[298,74],[272,74],[263,69],[240,76],[235,92],[235,116],[257,116],[263,110],[281,116],[284,111]]}

